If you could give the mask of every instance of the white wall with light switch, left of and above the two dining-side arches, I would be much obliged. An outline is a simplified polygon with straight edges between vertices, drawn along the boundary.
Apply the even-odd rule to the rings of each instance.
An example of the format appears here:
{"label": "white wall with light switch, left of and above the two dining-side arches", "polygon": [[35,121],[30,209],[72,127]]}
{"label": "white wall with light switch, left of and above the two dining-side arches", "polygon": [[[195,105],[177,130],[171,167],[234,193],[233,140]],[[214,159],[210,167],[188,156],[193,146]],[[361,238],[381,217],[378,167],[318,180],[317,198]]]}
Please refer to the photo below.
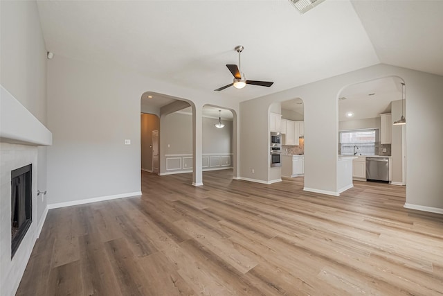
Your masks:
{"label": "white wall with light switch, left of and above the two dining-side arches", "polygon": [[[212,93],[176,87],[125,69],[60,55],[48,63],[48,127],[54,139],[48,148],[51,207],[141,191],[140,99],[147,91],[188,98],[199,110],[208,101],[238,109],[235,100],[221,100]],[[125,139],[131,145],[124,145]]]}

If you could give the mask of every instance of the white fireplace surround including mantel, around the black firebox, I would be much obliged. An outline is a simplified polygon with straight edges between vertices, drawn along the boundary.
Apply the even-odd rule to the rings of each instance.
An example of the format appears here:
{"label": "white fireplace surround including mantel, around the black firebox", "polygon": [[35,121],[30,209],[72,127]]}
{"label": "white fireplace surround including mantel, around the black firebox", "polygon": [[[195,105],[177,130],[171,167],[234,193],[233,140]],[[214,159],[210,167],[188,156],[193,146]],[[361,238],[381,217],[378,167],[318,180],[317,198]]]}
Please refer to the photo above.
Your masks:
{"label": "white fireplace surround including mantel, around the black firebox", "polygon": [[[0,85],[0,295],[15,295],[47,209],[37,220],[37,146],[51,146],[51,132]],[[33,164],[33,222],[11,259],[11,171]]]}

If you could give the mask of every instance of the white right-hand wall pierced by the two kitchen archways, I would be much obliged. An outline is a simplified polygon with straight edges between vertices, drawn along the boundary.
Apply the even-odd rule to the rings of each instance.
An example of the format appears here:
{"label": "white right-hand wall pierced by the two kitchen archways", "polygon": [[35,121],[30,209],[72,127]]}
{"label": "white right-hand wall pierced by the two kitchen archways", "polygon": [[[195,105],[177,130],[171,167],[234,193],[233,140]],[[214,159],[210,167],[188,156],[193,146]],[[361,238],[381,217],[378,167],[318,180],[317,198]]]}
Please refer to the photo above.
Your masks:
{"label": "white right-hand wall pierced by the two kitchen archways", "polygon": [[[264,96],[240,104],[242,177],[266,180],[268,138],[266,118],[269,105],[289,98],[302,98],[305,104],[305,188],[335,193],[338,153],[338,94],[347,85],[399,76],[408,89],[406,106],[406,203],[431,209],[443,209],[442,153],[423,153],[422,145],[443,147],[440,127],[443,126],[443,77],[409,69],[379,64],[340,76],[320,80],[284,92]],[[244,137],[244,134],[247,136]],[[264,148],[257,148],[263,146]],[[423,172],[426,173],[423,173]]]}

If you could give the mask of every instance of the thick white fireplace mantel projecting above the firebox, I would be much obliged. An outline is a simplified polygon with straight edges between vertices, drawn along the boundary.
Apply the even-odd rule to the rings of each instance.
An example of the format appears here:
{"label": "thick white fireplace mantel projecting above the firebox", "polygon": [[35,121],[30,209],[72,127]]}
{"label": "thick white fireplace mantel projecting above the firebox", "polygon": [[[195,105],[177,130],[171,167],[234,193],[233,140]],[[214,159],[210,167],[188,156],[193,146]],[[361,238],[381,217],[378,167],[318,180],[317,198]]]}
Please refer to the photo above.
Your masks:
{"label": "thick white fireplace mantel projecting above the firebox", "polygon": [[53,134],[0,85],[0,142],[51,146]]}

